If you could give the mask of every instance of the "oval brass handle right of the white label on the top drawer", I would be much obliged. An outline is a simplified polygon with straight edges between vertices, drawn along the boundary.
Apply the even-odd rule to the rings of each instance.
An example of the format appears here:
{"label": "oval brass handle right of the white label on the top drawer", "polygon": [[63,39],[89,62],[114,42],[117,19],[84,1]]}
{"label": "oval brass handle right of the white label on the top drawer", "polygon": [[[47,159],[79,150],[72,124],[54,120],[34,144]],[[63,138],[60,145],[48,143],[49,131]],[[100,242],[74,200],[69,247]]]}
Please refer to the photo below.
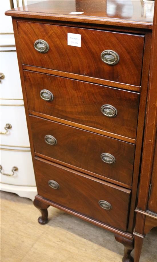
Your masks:
{"label": "oval brass handle right of the white label on the top drawer", "polygon": [[113,50],[104,50],[100,56],[101,60],[110,66],[114,66],[119,62],[119,55]]}

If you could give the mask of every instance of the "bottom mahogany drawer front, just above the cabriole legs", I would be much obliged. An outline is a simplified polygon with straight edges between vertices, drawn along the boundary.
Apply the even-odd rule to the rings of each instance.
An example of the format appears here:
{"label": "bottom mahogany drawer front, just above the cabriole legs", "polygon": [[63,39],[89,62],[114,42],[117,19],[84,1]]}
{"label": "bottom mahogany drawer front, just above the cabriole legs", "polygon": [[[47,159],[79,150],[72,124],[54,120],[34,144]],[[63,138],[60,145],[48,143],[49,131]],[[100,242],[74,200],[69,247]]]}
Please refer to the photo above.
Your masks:
{"label": "bottom mahogany drawer front, just above the cabriole legs", "polygon": [[[40,196],[126,230],[130,190],[39,158],[35,159],[35,173]],[[100,207],[99,203],[106,204],[108,210]]]}

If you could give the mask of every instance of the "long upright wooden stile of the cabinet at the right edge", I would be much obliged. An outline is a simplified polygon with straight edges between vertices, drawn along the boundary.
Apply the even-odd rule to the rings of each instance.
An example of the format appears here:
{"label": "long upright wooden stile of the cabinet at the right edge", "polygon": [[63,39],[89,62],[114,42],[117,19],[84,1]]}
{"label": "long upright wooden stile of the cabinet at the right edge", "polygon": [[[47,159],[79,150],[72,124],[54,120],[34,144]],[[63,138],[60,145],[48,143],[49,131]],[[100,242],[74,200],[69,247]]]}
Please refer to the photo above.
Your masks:
{"label": "long upright wooden stile of the cabinet at the right edge", "polygon": [[[156,1],[155,1],[156,3]],[[152,175],[152,165],[154,158],[154,146],[157,131],[157,74],[156,74],[156,60],[157,60],[157,4],[154,12],[154,30],[152,35],[152,48],[150,60],[150,77],[148,86],[148,98],[146,108],[146,124],[144,131],[144,146],[142,153],[142,166],[140,177],[140,194],[138,198],[138,208],[146,210],[148,202],[148,191],[150,184],[150,177]]]}

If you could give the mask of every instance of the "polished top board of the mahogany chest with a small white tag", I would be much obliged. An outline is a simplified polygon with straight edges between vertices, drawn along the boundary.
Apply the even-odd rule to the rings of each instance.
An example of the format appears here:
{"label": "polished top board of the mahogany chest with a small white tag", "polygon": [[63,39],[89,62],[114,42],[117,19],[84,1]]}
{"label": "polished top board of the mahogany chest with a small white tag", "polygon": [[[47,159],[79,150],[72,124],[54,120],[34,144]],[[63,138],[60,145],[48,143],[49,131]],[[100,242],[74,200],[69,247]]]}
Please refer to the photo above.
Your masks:
{"label": "polished top board of the mahogany chest with a small white tag", "polygon": [[[16,17],[152,28],[154,1],[53,0],[8,10]],[[74,15],[71,12],[83,12]]]}

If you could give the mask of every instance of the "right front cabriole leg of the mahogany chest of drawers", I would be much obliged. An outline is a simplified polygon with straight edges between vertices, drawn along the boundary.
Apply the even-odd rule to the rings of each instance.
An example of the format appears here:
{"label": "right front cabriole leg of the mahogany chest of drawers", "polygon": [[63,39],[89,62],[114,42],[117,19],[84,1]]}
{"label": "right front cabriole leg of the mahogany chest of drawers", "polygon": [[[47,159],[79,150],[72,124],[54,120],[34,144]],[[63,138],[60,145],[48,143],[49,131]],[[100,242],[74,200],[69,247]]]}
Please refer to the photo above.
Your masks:
{"label": "right front cabriole leg of the mahogany chest of drawers", "polygon": [[134,243],[133,243],[133,239],[129,240],[125,237],[121,237],[119,235],[114,235],[116,241],[120,242],[121,244],[124,245],[124,256],[122,261],[123,262],[133,262],[134,259],[133,257],[130,255],[132,249],[134,248]]}

